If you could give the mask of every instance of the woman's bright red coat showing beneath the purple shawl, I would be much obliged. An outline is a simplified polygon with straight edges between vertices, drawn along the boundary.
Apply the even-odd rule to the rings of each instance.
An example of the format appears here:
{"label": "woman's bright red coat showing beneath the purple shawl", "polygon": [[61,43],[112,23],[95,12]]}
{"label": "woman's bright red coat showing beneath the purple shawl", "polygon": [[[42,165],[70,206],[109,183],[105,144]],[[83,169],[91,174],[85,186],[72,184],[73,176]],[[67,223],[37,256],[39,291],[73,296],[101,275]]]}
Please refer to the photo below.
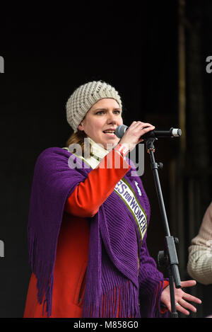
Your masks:
{"label": "woman's bright red coat showing beneath the purple shawl", "polygon": [[[89,224],[86,217],[93,217],[98,212],[102,202],[130,168],[121,156],[120,168],[114,168],[114,154],[117,152],[110,151],[107,154],[107,167],[101,167],[106,162],[104,158],[100,161],[100,167],[90,171],[86,181],[80,183],[66,201],[54,265],[51,318],[82,316],[89,248]],[[36,277],[32,274],[24,318],[47,317],[46,311],[42,315],[43,304],[37,301],[36,283]]]}

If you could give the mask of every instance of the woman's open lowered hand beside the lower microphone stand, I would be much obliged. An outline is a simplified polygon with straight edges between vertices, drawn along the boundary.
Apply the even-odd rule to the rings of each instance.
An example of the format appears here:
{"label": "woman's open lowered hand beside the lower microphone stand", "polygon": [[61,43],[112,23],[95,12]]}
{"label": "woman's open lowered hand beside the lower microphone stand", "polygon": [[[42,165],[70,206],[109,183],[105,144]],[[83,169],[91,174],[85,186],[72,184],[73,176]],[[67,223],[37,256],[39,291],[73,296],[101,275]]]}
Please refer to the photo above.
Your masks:
{"label": "woman's open lowered hand beside the lower microphone stand", "polygon": [[[182,287],[192,287],[196,285],[195,280],[187,280],[181,282]],[[165,287],[161,294],[160,301],[165,304],[167,309],[169,311],[172,311],[171,309],[171,301],[170,301],[170,286]],[[175,306],[176,310],[182,312],[182,314],[189,315],[189,310],[196,312],[196,308],[190,304],[187,301],[195,302],[197,304],[201,304],[201,299],[198,299],[197,297],[193,297],[190,294],[187,294],[182,290],[182,288],[175,288]],[[187,309],[185,309],[187,308]]]}

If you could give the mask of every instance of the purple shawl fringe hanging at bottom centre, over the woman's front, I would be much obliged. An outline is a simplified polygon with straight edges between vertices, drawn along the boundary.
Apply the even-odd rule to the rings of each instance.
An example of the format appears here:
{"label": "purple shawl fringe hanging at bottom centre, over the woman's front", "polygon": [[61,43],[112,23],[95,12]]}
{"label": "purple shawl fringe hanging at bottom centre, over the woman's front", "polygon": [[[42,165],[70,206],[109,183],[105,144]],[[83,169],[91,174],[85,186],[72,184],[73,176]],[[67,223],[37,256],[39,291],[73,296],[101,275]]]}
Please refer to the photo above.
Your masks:
{"label": "purple shawl fringe hanging at bottom centre, over the woman's front", "polygon": [[100,296],[98,304],[88,302],[83,306],[83,318],[139,317],[139,291],[129,280],[107,290]]}

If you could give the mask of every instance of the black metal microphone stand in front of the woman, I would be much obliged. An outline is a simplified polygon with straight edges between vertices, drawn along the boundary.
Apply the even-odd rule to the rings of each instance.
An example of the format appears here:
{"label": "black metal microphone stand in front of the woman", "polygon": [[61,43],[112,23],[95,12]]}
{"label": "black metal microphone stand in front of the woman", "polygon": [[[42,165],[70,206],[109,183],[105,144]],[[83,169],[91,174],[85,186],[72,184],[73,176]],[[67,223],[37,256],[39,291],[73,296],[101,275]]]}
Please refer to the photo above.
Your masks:
{"label": "black metal microphone stand in front of the woman", "polygon": [[[162,168],[163,164],[157,164],[155,162],[154,152],[155,147],[153,143],[155,142],[156,137],[149,137],[145,139],[146,141],[146,149],[151,158],[151,168],[153,171],[155,188],[158,195],[158,201],[160,205],[160,212],[163,217],[163,224],[165,228],[165,250],[159,251],[158,253],[158,263],[159,265],[166,265],[167,272],[170,279],[170,299],[171,299],[171,314],[172,318],[178,318],[176,304],[175,304],[175,287],[181,288],[181,282],[179,277],[178,270],[178,259],[177,259],[177,251],[175,248],[175,244],[178,244],[178,239],[174,238],[170,235],[170,229],[167,222],[167,215],[165,212],[165,205],[163,202],[163,194],[160,187],[160,179],[158,176],[158,168]],[[174,285],[175,284],[175,285]]]}

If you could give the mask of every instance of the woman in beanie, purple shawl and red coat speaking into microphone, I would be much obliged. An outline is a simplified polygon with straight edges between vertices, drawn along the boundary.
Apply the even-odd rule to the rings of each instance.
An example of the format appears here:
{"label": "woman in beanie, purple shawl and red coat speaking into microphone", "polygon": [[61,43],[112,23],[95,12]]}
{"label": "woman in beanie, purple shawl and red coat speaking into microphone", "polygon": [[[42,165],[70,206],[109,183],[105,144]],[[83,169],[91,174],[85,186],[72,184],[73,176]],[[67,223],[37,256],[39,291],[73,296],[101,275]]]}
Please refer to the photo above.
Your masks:
{"label": "woman in beanie, purple shawl and red coat speaking into microphone", "polygon": [[[24,317],[167,316],[169,282],[146,246],[150,205],[126,158],[155,127],[134,121],[120,140],[122,101],[102,81],[78,87],[66,116],[73,129],[66,147],[45,149],[35,164]],[[182,289],[175,299],[184,314],[196,311],[187,300],[201,303]]]}

